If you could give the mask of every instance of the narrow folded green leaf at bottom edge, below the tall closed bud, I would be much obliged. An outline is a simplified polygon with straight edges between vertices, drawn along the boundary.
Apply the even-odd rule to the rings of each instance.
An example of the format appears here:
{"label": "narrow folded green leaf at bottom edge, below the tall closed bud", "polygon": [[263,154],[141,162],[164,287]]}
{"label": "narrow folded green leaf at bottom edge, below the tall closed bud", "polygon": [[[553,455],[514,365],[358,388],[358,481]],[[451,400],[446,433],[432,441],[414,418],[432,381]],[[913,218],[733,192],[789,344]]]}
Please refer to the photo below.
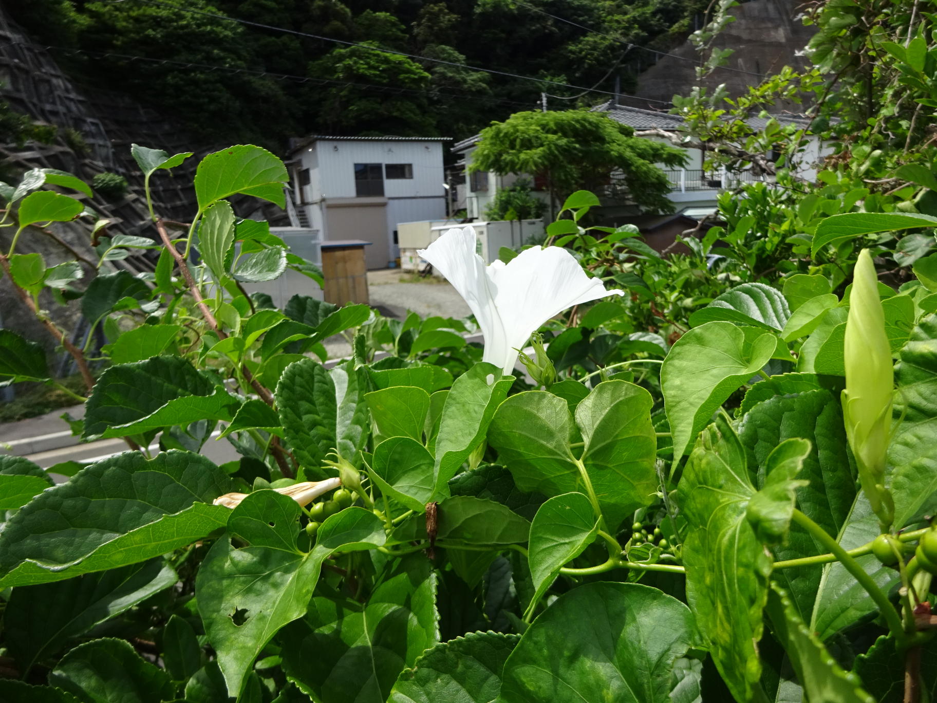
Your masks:
{"label": "narrow folded green leaf at bottom edge, below the tall closed bud", "polygon": [[[830,703],[876,703],[863,691],[855,675],[847,674],[826,651],[823,643],[807,628],[787,594],[771,585],[766,607],[774,635],[787,652],[803,686],[806,700]],[[878,699],[882,703],[881,699]]]}

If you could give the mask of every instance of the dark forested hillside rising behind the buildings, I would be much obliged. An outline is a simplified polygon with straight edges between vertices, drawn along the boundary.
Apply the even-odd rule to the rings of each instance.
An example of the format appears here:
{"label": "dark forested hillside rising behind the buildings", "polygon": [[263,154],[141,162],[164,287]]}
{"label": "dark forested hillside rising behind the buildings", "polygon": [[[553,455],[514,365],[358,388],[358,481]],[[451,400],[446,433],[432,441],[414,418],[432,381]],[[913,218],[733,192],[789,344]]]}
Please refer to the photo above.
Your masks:
{"label": "dark forested hillside rising behind the buildings", "polygon": [[[531,108],[543,90],[582,92],[463,64],[609,92],[618,78],[627,91],[654,53],[626,42],[666,50],[692,31],[706,5],[31,0],[7,8],[77,79],[174,113],[201,139],[275,147],[309,132],[462,138]],[[602,94],[576,99],[596,102]]]}

